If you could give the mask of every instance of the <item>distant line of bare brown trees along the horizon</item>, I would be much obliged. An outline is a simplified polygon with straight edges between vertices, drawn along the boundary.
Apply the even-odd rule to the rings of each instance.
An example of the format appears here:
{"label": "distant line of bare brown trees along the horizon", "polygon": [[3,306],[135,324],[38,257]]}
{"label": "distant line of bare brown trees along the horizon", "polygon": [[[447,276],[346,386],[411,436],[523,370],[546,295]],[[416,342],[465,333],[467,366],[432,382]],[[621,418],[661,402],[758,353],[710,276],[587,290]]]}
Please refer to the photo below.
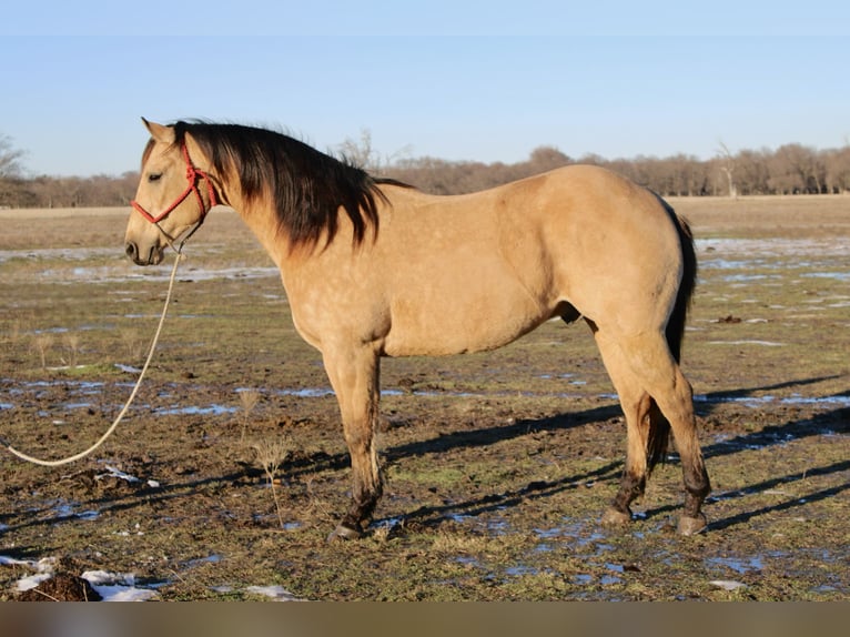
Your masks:
{"label": "distant line of bare brown trees along the horizon", "polygon": [[[516,163],[447,161],[436,158],[384,158],[366,131],[346,140],[336,154],[373,174],[397,179],[435,194],[462,194],[574,163],[608,168],[664,196],[739,196],[763,194],[850,193],[850,144],[817,150],[789,143],[776,150],[731,153],[720,144],[716,156],[636,156],[607,160],[571,158],[555,146],[539,146]],[[30,176],[24,153],[0,135],[0,208],[89,208],[129,205],[139,173],[94,176]]]}

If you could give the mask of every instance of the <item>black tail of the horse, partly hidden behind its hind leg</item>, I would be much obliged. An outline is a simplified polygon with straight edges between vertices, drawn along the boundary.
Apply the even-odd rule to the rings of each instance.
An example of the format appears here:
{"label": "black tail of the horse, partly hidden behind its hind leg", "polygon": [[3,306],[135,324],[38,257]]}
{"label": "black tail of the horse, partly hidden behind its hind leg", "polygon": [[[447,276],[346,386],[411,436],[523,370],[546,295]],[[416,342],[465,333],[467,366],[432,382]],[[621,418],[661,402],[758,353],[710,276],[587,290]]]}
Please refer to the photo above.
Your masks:
{"label": "black tail of the horse, partly hidden behind its hind leg", "polygon": [[[658,195],[656,195],[658,196]],[[690,301],[697,286],[697,253],[694,249],[694,234],[688,222],[679,216],[664,199],[658,196],[667,214],[670,216],[679,235],[682,257],[682,275],[679,290],[676,293],[676,304],[667,322],[665,335],[670,353],[677,363],[681,361],[681,342],[685,338],[685,322],[688,317]],[[670,423],[664,417],[658,406],[652,401],[649,410],[649,436],[647,439],[647,473],[662,462],[667,455],[670,438]]]}

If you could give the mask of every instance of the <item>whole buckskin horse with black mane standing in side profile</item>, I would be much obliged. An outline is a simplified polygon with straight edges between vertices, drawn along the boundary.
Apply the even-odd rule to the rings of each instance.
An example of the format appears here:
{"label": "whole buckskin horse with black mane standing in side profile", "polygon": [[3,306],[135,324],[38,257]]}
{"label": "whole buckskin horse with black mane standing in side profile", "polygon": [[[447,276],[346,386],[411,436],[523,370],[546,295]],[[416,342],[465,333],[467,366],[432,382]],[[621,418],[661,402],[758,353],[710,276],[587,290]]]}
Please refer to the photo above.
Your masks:
{"label": "whole buckskin horse with black mane standing in side profile", "polygon": [[127,255],[160,263],[219,204],[267,251],[297,332],[322,355],[351,457],[351,504],[328,539],[361,537],[382,496],[382,357],[493,350],[555,317],[589,325],[625,415],[626,461],[601,524],[631,519],[671,432],[678,532],[706,528],[710,484],[679,365],[697,260],[688,223],[659,195],[578,164],[432,195],[280,132],[143,122]]}

